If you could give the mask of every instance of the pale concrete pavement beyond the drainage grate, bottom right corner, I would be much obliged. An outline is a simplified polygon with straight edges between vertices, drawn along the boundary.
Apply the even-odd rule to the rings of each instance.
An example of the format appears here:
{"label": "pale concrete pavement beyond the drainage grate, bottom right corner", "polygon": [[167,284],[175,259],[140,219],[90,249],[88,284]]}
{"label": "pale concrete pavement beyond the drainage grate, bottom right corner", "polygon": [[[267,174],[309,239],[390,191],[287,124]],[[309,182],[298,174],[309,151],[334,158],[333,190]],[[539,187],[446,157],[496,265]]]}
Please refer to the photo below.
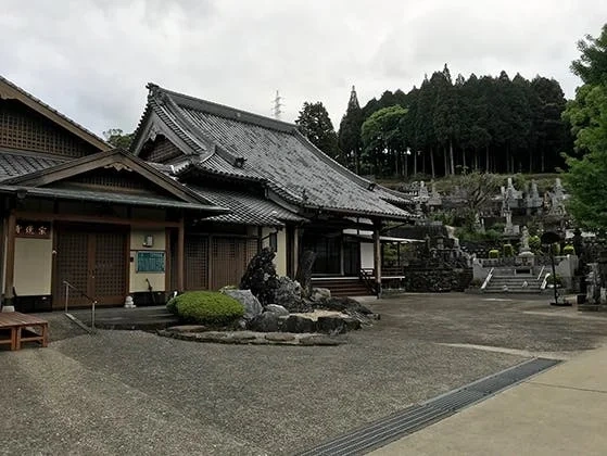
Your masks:
{"label": "pale concrete pavement beyond the drainage grate, bottom right corner", "polygon": [[607,346],[585,352],[372,454],[605,455]]}

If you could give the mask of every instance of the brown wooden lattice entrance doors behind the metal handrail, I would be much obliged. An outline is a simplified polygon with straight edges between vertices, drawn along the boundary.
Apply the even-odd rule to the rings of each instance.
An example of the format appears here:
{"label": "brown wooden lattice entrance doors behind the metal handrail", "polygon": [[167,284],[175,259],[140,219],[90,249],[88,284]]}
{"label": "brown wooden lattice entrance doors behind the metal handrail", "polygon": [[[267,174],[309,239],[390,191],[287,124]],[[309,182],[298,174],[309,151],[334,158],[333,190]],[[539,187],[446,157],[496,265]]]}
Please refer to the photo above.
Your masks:
{"label": "brown wooden lattice entrance doors behind the metal handrail", "polygon": [[[56,233],[53,308],[65,305],[65,283],[97,300],[117,305],[128,294],[128,231],[118,226],[59,226]],[[69,307],[90,300],[69,290]]]}

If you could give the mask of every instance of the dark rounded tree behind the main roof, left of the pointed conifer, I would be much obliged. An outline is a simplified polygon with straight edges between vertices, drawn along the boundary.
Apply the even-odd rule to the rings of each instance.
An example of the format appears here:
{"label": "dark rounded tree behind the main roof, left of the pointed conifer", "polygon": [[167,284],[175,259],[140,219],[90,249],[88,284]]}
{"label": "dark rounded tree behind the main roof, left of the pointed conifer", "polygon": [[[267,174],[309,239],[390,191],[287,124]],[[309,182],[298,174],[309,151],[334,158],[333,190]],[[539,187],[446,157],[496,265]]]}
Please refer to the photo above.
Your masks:
{"label": "dark rounded tree behind the main roof, left of the pointed conifer", "polygon": [[304,102],[300,116],[295,121],[300,131],[309,141],[332,159],[339,160],[338,135],[329,118],[329,113],[321,102]]}

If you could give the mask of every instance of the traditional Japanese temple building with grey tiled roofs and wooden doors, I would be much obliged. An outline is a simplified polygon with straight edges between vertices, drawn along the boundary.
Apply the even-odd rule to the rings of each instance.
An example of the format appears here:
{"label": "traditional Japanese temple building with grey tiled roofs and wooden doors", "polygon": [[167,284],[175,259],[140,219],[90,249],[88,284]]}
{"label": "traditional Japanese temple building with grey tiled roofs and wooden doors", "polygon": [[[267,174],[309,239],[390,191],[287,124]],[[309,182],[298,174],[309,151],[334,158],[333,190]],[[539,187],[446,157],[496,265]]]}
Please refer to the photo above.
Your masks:
{"label": "traditional Japanese temple building with grey tiled roofs and wooden doors", "polygon": [[[381,229],[407,201],[295,125],[149,85],[130,151],[0,78],[3,305],[164,303],[238,284],[264,245],[279,275],[381,282]],[[323,282],[325,283],[325,282]],[[337,283],[337,282],[336,282]]]}

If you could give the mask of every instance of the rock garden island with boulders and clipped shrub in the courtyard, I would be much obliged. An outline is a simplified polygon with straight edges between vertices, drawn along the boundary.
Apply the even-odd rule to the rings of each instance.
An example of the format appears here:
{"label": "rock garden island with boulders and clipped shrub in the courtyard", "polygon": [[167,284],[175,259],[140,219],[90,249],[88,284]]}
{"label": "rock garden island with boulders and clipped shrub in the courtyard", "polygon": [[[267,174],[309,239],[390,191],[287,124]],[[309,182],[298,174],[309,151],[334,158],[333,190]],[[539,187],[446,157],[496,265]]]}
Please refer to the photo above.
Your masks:
{"label": "rock garden island with boulders and clipped shrub in the courtyard", "polygon": [[167,308],[182,325],[159,334],[195,342],[338,345],[345,342],[342,334],[379,318],[355,300],[312,288],[309,280],[302,280],[302,287],[289,277],[278,277],[274,257],[267,248],[255,255],[238,288],[186,292],[172,299]]}

